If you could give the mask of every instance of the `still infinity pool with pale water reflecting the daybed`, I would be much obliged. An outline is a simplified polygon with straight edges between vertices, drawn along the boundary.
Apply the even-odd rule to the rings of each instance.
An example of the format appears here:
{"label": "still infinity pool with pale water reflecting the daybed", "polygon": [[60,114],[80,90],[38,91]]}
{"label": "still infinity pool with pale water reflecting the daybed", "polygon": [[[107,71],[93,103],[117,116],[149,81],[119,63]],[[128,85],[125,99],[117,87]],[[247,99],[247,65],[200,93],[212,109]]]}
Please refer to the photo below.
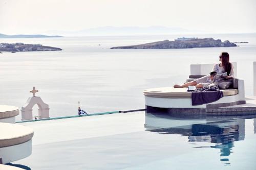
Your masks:
{"label": "still infinity pool with pale water reflecting the daybed", "polygon": [[22,123],[34,129],[25,169],[256,169],[256,116],[117,113]]}

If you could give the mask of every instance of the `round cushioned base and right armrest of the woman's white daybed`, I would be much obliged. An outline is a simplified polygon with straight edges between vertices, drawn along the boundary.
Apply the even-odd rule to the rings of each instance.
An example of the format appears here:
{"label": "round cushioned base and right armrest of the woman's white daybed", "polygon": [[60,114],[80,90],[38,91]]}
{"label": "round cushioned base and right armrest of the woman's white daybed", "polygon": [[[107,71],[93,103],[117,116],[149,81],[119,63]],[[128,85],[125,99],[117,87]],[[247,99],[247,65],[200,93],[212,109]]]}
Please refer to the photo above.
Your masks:
{"label": "round cushioned base and right armrest of the woman's white daybed", "polygon": [[209,104],[193,106],[191,92],[186,90],[187,88],[173,87],[146,89],[144,90],[145,105],[157,108],[172,108],[176,112],[199,111],[202,113],[206,112],[206,109],[245,104],[244,80],[242,79],[238,79],[238,89],[222,90],[224,97]]}

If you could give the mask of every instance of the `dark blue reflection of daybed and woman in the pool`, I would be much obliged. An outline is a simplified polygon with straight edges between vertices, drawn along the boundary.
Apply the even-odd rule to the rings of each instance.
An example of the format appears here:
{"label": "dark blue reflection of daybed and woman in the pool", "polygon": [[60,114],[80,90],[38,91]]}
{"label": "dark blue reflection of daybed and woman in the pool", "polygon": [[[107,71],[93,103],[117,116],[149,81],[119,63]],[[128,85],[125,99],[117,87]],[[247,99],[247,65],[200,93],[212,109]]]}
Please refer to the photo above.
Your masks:
{"label": "dark blue reflection of daybed and woman in the pool", "polygon": [[[215,145],[194,147],[194,148],[214,148],[220,150],[220,161],[228,163],[228,156],[233,153],[234,142],[245,138],[245,118],[246,117],[174,117],[168,113],[150,112],[145,113],[145,129],[159,134],[179,134],[188,136],[188,142],[209,142]],[[256,129],[256,119],[254,119],[254,133]],[[197,143],[199,144],[199,143]]]}

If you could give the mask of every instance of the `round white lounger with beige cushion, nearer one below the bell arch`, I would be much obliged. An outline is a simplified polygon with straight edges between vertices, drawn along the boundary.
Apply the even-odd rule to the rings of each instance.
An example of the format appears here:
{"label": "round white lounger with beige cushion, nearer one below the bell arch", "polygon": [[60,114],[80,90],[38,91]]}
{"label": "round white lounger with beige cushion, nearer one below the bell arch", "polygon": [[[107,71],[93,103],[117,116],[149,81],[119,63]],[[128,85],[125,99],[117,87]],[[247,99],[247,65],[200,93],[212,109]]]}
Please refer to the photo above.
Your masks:
{"label": "round white lounger with beige cushion, nearer one below the bell arch", "polygon": [[0,158],[9,163],[32,153],[33,130],[16,124],[0,123]]}

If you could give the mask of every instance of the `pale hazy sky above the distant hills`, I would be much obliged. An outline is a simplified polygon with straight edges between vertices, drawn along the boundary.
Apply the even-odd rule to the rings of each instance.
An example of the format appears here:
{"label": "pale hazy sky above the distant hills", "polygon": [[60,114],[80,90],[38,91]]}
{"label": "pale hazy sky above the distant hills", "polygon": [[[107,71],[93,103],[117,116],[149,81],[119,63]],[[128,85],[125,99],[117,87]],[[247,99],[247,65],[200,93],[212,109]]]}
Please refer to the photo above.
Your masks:
{"label": "pale hazy sky above the distant hills", "polygon": [[0,0],[0,33],[105,26],[246,33],[256,32],[255,9],[254,0]]}

